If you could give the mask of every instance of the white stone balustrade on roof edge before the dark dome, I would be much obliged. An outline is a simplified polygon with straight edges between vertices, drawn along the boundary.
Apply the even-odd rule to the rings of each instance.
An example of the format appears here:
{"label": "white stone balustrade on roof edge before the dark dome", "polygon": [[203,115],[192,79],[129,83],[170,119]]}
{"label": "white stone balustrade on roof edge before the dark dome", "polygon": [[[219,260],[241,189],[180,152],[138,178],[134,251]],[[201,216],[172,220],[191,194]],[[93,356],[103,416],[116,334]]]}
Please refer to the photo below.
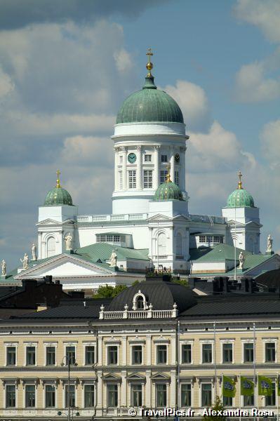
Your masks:
{"label": "white stone balustrade on roof edge before the dark dome", "polygon": [[170,319],[178,316],[177,305],[174,302],[172,310],[153,310],[152,304],[146,310],[128,310],[128,305],[124,306],[124,310],[116,312],[105,312],[105,307],[100,307],[99,319]]}

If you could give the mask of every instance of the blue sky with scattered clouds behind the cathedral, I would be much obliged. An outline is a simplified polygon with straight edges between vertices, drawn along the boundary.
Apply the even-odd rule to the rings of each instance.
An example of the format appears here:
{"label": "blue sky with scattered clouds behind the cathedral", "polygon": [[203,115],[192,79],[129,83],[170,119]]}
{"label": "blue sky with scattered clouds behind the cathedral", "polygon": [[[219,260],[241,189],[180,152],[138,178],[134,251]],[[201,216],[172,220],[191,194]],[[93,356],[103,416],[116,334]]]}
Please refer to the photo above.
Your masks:
{"label": "blue sky with scattered clouds behind the cathedral", "polygon": [[191,138],[192,213],[220,215],[236,172],[280,250],[278,0],[0,0],[0,258],[36,241],[37,206],[62,171],[79,213],[110,213],[121,102],[156,84]]}

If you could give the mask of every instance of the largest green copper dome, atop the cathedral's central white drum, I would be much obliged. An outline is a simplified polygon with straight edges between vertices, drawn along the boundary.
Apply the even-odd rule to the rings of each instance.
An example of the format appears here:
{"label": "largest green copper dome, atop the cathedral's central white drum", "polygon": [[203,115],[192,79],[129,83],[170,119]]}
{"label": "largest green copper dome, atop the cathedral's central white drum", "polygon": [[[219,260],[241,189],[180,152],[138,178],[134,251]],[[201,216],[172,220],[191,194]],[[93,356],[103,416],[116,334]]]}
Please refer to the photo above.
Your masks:
{"label": "largest green copper dome, atop the cathedral's central white drum", "polygon": [[143,88],[124,100],[116,117],[116,124],[150,121],[184,123],[179,105],[156,88],[153,76],[147,76]]}

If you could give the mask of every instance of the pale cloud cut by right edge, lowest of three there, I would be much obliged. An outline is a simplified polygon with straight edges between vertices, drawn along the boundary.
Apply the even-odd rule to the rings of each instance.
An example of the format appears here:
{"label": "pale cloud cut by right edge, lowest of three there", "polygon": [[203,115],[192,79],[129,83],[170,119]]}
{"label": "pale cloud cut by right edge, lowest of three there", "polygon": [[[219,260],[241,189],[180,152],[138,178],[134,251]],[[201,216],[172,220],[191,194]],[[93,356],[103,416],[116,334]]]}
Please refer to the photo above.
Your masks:
{"label": "pale cloud cut by right edge, lowest of three there", "polygon": [[260,133],[262,152],[271,168],[280,171],[280,119],[265,124]]}

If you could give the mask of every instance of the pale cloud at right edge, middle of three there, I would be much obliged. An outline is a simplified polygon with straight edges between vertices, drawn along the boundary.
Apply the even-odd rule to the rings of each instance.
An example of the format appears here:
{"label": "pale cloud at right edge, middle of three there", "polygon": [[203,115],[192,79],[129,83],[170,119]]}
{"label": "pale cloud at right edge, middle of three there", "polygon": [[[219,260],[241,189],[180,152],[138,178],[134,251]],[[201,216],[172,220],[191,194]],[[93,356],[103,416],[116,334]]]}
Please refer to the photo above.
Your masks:
{"label": "pale cloud at right edge, middle of three there", "polygon": [[274,100],[280,96],[280,80],[266,78],[265,62],[244,65],[236,74],[235,95],[241,102]]}

